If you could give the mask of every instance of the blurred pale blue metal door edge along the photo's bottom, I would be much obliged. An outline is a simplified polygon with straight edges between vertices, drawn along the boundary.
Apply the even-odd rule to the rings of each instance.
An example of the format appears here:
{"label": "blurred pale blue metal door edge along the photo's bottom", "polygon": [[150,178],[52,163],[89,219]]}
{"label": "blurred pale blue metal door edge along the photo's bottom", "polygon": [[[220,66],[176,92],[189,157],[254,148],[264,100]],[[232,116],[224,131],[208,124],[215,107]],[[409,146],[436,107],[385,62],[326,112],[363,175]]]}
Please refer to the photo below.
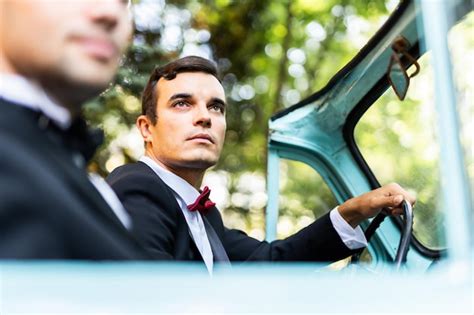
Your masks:
{"label": "blurred pale blue metal door edge along the photo's bottom", "polygon": [[1,314],[472,314],[462,274],[308,264],[0,263]]}

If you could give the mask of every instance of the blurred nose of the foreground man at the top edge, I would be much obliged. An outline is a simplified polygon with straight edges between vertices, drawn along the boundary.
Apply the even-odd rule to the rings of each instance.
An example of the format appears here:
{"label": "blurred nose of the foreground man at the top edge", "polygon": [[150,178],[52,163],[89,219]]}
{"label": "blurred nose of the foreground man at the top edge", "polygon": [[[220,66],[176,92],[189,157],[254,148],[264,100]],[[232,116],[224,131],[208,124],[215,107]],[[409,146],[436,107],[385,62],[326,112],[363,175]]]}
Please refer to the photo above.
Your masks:
{"label": "blurred nose of the foreground man at the top edge", "polygon": [[119,19],[127,14],[127,10],[127,4],[121,0],[101,0],[89,10],[89,16],[95,23],[110,31],[117,26]]}

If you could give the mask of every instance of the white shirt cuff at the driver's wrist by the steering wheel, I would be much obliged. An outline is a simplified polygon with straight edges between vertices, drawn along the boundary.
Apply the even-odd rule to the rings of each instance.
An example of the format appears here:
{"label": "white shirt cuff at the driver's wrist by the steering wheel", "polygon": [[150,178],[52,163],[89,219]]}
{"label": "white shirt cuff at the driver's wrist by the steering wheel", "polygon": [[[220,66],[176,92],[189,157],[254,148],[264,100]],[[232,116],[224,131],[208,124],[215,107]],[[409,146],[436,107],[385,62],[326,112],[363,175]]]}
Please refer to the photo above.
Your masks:
{"label": "white shirt cuff at the driver's wrist by the steering wheel", "polygon": [[367,246],[367,239],[360,226],[353,229],[341,216],[338,207],[331,210],[329,218],[337,234],[349,249],[359,249]]}

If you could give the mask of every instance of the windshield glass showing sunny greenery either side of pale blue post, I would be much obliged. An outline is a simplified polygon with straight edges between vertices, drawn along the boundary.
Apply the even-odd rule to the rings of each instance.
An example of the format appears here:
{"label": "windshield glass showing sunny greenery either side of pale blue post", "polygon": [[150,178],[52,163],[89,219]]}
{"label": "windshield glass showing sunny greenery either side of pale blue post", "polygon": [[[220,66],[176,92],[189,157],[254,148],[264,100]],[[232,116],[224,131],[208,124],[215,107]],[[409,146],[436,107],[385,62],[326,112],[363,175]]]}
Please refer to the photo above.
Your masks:
{"label": "windshield glass showing sunny greenery either side of pale blue post", "polygon": [[[449,33],[454,77],[458,87],[461,141],[472,182],[474,113],[472,75],[474,15],[470,13]],[[410,80],[407,95],[400,101],[387,90],[362,116],[355,129],[356,143],[380,184],[397,182],[417,196],[414,209],[414,235],[426,247],[445,246],[441,208],[439,143],[436,136],[436,107],[431,54],[418,60],[421,71]],[[412,67],[414,68],[414,67]],[[414,69],[410,68],[408,74]]]}

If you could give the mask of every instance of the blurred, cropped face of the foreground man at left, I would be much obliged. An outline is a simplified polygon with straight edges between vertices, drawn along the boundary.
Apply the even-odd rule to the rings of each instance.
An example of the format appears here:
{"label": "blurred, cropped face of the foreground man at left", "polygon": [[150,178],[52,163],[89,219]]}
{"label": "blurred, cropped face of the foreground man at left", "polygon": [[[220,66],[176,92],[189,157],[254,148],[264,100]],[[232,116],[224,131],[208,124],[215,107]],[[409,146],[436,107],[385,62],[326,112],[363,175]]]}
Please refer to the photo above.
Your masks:
{"label": "blurred, cropped face of the foreground man at left", "polygon": [[102,91],[131,36],[123,0],[2,0],[0,11],[1,71],[37,80],[53,94]]}

